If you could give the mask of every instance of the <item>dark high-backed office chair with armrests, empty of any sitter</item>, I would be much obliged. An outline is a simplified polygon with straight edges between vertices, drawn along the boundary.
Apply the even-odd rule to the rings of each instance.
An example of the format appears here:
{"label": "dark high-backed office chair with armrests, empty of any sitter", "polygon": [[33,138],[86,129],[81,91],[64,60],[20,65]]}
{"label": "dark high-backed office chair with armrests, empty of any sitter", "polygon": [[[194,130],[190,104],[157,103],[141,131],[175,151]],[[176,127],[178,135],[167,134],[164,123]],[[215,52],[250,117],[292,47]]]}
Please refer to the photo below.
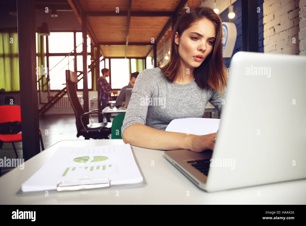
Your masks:
{"label": "dark high-backed office chair with armrests, empty of any sitter", "polygon": [[[77,134],[76,137],[83,136],[85,140],[89,140],[89,138],[93,139],[109,139],[108,135],[111,133],[111,122],[104,122],[105,114],[103,114],[101,109],[95,109],[89,112],[84,112],[84,109],[77,97],[76,94],[76,85],[78,79],[77,74],[73,71],[66,70],[66,87],[67,87],[67,94],[69,97],[69,101],[73,108],[74,114],[76,116],[76,129]],[[92,123],[90,115],[98,114],[103,115],[103,122],[104,123]],[[86,125],[86,119],[88,117],[92,124]]]}

